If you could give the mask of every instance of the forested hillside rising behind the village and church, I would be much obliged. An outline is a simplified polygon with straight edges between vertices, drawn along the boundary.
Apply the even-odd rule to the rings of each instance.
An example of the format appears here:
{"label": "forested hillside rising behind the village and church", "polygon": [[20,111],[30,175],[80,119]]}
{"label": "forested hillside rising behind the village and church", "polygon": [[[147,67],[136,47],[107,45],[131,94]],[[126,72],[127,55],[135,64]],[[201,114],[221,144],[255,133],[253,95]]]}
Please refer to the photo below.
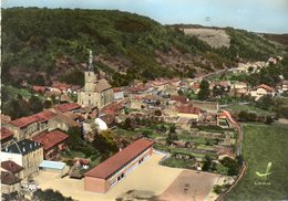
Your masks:
{"label": "forested hillside rising behind the village and church", "polygon": [[82,84],[89,50],[113,85],[134,78],[195,76],[232,67],[238,56],[267,60],[276,46],[256,34],[226,29],[230,46],[213,49],[175,27],[116,10],[2,9],[2,83]]}

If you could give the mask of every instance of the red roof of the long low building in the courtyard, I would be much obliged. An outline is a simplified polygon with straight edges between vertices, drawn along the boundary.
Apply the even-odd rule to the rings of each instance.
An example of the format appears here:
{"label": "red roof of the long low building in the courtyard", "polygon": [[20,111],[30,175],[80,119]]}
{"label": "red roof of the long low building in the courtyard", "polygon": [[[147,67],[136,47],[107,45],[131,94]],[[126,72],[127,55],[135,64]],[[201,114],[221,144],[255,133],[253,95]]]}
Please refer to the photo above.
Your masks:
{"label": "red roof of the long low building in the courtyard", "polygon": [[115,154],[104,162],[88,171],[84,176],[106,179],[152,145],[153,141],[151,140],[144,138],[138,139],[124,148],[122,151]]}

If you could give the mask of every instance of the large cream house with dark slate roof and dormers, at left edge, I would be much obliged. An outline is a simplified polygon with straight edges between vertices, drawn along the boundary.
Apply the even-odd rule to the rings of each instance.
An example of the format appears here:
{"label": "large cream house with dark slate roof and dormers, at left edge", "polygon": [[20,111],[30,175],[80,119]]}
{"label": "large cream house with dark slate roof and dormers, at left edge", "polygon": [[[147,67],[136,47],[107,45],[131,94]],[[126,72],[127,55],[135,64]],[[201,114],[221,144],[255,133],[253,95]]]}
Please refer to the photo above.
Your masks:
{"label": "large cream house with dark slate roof and dormers, at left edge", "polygon": [[37,141],[23,139],[1,150],[1,160],[12,160],[23,167],[23,178],[38,172],[43,160],[43,147]]}

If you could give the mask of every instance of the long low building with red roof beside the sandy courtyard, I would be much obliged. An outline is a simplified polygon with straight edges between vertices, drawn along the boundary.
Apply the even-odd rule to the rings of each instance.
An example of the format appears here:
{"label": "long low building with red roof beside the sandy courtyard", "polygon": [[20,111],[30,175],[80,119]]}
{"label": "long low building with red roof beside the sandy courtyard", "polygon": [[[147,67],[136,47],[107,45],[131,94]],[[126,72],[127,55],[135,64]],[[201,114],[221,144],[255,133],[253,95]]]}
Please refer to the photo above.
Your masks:
{"label": "long low building with red roof beside the sandy courtyard", "polygon": [[153,152],[153,141],[138,139],[110,157],[84,174],[86,191],[105,193],[132,170],[148,159]]}

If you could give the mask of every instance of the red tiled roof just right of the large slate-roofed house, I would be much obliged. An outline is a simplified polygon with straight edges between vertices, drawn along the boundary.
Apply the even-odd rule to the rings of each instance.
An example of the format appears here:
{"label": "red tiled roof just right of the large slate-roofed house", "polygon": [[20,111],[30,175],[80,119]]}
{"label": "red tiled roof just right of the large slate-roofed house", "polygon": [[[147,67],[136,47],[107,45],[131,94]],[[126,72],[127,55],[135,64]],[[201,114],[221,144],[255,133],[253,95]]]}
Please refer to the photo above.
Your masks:
{"label": "red tiled roof just right of the large slate-roofed house", "polygon": [[68,138],[69,138],[69,135],[64,134],[63,131],[53,130],[53,131],[45,133],[40,136],[35,136],[33,138],[33,140],[42,144],[44,150],[48,150],[48,149],[54,147],[55,145],[64,141]]}

